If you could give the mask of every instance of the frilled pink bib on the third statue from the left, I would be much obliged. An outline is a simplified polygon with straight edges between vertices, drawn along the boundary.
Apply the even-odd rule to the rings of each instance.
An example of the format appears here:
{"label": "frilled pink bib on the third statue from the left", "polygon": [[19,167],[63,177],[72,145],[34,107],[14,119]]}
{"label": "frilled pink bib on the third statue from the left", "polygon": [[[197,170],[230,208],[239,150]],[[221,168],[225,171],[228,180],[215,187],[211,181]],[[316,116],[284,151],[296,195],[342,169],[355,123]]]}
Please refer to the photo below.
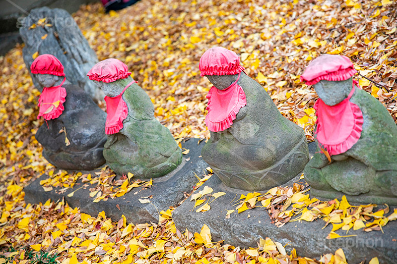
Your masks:
{"label": "frilled pink bib on the third statue from the left", "polygon": [[206,98],[208,99],[205,124],[212,132],[219,132],[229,128],[240,108],[247,105],[247,99],[243,88],[237,84],[237,80],[224,90],[218,90],[212,86]]}

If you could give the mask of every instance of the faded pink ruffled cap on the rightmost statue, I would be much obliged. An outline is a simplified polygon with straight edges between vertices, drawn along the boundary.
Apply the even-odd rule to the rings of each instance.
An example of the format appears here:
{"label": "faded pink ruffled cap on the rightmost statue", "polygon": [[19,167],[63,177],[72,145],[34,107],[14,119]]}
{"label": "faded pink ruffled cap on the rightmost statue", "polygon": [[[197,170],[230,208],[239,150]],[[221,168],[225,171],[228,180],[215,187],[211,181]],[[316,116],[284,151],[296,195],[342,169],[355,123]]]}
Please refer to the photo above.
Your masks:
{"label": "faded pink ruffled cap on the rightmost statue", "polygon": [[344,81],[357,71],[346,56],[324,54],[309,63],[300,79],[307,85],[313,85],[321,80]]}

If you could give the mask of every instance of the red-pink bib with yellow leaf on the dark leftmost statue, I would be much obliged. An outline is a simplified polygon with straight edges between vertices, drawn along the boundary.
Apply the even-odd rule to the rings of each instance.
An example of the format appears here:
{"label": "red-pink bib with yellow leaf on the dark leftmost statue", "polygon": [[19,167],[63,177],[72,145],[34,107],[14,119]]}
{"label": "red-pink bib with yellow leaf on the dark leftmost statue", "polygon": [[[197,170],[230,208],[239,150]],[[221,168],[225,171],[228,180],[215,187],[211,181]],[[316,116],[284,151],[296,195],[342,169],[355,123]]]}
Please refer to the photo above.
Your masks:
{"label": "red-pink bib with yellow leaf on the dark leftmost statue", "polygon": [[60,85],[43,88],[38,103],[40,109],[37,119],[40,119],[40,116],[43,116],[45,120],[55,119],[65,110],[66,89],[61,87],[65,80],[66,78],[64,77]]}

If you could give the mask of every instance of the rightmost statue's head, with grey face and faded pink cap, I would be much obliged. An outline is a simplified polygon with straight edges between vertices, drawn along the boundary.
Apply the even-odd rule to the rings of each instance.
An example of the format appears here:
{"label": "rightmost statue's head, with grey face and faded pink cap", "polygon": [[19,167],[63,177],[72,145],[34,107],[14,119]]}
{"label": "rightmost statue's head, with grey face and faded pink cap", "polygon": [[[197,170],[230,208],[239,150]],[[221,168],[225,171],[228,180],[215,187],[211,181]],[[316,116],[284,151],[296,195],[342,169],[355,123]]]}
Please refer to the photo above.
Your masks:
{"label": "rightmost statue's head, with grey face and faded pink cap", "polygon": [[313,85],[326,105],[334,106],[348,97],[356,72],[348,57],[325,54],[312,60],[300,78]]}

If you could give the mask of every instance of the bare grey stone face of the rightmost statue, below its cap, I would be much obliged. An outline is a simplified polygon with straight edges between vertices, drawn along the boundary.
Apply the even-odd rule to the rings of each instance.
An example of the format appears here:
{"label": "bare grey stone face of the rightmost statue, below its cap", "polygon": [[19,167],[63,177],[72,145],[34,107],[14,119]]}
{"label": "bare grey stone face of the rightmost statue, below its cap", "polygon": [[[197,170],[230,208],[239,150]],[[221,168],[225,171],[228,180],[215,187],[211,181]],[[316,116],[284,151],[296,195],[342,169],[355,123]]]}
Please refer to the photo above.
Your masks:
{"label": "bare grey stone face of the rightmost statue, below its cap", "polygon": [[353,79],[349,78],[345,81],[321,80],[313,86],[326,105],[334,106],[347,98],[353,87]]}

